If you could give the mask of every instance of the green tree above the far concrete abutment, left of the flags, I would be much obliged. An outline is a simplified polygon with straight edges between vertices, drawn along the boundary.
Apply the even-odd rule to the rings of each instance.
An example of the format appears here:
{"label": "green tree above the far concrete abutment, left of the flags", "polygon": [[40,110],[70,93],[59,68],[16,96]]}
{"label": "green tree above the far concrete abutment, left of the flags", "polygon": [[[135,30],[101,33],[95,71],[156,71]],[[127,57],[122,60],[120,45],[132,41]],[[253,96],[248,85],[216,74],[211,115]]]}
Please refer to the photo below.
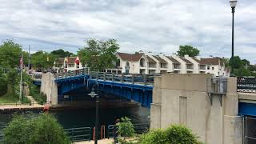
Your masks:
{"label": "green tree above the far concrete abutment, left of the flags", "polygon": [[34,54],[31,54],[31,64],[36,69],[46,69],[54,66],[56,56],[49,54],[45,51],[39,50]]}

